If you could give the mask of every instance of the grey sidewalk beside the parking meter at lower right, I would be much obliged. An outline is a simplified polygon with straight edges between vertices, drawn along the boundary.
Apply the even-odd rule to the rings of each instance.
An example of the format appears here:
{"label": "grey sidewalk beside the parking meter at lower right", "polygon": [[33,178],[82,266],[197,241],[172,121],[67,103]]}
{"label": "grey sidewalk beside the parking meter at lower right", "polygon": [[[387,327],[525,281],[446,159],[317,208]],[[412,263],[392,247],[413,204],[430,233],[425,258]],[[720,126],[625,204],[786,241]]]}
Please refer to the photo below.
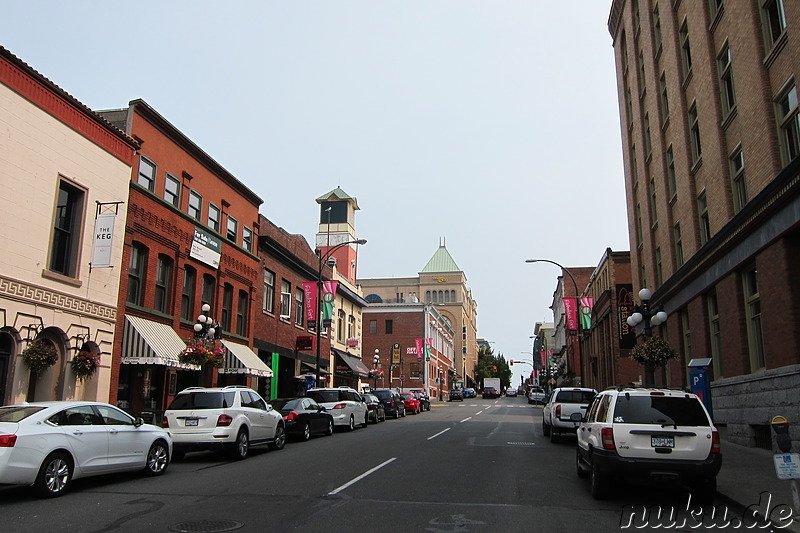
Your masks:
{"label": "grey sidewalk beside the parking meter at lower right", "polygon": [[[769,510],[766,512],[775,510],[779,505],[787,505],[792,509],[791,482],[778,479],[775,475],[773,455],[769,450],[739,446],[723,440],[722,469],[717,475],[717,493],[721,499],[743,508],[757,508],[762,513],[767,506]],[[800,485],[800,480],[795,482]],[[773,520],[780,511],[774,511]],[[795,516],[781,531],[800,533],[800,517]]]}

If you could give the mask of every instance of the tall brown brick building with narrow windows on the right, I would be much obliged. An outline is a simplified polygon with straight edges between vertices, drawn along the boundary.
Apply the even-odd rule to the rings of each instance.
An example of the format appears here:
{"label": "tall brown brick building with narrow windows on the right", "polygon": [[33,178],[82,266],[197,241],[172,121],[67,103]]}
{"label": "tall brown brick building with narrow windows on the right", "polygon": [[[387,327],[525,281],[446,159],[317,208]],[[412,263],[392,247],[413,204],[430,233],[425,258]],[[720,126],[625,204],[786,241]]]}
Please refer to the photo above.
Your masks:
{"label": "tall brown brick building with narrow windows on the right", "polygon": [[800,418],[800,4],[615,0],[608,29],[634,293],[679,353],[657,382],[710,357],[715,421],[770,448]]}

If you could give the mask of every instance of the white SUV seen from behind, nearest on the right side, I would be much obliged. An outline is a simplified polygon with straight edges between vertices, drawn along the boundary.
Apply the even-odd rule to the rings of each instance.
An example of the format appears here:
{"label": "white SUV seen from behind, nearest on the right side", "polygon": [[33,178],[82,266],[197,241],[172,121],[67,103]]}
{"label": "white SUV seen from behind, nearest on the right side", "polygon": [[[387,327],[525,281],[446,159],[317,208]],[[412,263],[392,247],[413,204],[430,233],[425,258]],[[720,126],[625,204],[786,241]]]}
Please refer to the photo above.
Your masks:
{"label": "white SUV seen from behind, nearest on the right side", "polygon": [[[579,419],[579,417],[575,417]],[[614,478],[684,484],[699,503],[716,494],[720,439],[703,402],[677,389],[614,388],[592,402],[578,429],[577,471],[601,499]]]}

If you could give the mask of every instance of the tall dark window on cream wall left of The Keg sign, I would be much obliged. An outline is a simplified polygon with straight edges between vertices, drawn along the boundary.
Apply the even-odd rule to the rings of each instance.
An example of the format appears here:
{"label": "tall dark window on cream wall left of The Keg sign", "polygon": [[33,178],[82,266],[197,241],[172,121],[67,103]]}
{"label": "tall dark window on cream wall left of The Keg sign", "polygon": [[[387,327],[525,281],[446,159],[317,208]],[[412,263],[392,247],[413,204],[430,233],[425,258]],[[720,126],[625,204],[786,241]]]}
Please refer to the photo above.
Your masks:
{"label": "tall dark window on cream wall left of The Keg sign", "polygon": [[84,197],[82,190],[65,180],[59,181],[50,249],[50,270],[71,278],[78,276]]}

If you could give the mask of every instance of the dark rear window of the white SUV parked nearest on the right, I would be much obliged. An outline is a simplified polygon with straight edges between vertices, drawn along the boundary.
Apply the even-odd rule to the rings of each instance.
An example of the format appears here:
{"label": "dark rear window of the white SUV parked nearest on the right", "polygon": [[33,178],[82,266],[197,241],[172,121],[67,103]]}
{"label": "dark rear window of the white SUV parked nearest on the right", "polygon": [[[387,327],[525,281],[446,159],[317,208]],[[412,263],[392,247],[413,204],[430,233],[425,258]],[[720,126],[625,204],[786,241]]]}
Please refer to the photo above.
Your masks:
{"label": "dark rear window of the white SUV parked nearest on the right", "polygon": [[614,408],[619,424],[708,426],[700,402],[686,396],[619,396]]}

